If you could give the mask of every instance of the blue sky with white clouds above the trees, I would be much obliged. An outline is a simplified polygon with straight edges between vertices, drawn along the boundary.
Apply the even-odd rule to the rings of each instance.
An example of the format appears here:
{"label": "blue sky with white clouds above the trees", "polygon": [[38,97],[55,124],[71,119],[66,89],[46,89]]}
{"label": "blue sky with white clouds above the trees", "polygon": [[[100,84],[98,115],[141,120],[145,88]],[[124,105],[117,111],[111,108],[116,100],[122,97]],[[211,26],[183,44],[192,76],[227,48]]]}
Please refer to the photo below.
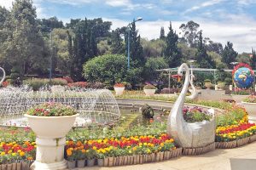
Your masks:
{"label": "blue sky with white clouds above the trees", "polygon": [[[11,8],[13,0],[0,0]],[[239,53],[256,48],[256,0],[33,0],[38,18],[56,16],[70,19],[102,18],[112,21],[112,29],[127,26],[138,17],[141,37],[160,37],[160,27],[167,33],[170,21],[178,35],[179,26],[193,20],[200,25],[203,37],[213,42],[233,42]]]}

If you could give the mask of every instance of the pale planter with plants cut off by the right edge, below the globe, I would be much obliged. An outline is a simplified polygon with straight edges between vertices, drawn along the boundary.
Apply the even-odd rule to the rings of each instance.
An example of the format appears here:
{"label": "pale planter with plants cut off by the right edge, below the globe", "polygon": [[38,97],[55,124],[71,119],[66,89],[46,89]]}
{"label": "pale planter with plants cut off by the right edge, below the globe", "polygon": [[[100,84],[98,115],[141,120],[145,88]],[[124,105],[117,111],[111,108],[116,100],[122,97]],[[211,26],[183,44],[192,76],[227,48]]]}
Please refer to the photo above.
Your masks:
{"label": "pale planter with plants cut off by the right edge, below the globe", "polygon": [[256,95],[250,95],[241,104],[245,107],[250,122],[256,122]]}

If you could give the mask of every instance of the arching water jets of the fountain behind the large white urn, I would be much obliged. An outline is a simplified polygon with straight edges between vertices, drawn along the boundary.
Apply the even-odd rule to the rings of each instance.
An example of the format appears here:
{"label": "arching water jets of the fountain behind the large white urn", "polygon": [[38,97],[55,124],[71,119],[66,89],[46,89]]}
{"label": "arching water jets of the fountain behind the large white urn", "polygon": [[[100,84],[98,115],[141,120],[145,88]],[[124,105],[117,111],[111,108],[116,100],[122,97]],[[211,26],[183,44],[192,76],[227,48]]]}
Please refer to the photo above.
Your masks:
{"label": "arching water jets of the fountain behind the large white urn", "polygon": [[31,88],[3,88],[0,90],[0,126],[28,127],[24,113],[33,105],[58,102],[72,105],[79,113],[74,127],[106,125],[118,122],[120,111],[113,94],[108,89],[74,89],[51,92]]}

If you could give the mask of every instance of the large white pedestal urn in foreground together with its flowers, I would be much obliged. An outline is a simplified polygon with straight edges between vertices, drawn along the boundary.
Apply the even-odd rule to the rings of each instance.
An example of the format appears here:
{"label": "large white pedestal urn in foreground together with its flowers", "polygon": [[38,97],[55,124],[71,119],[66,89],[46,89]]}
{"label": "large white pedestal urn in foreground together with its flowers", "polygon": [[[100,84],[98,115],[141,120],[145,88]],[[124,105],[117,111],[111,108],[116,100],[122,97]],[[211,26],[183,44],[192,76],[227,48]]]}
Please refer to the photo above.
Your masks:
{"label": "large white pedestal urn in foreground together with its flowers", "polygon": [[29,127],[37,135],[37,156],[32,169],[65,169],[66,134],[79,114],[69,105],[44,103],[26,111]]}

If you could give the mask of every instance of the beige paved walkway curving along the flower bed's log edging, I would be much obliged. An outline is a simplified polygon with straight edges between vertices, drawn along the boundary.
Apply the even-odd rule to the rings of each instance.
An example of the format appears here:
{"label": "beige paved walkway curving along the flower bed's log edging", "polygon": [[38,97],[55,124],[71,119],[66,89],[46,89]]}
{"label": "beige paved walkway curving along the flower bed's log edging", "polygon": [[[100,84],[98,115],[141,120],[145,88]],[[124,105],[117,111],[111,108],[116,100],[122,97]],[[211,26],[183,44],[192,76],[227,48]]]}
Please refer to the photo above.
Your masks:
{"label": "beige paved walkway curving along the flower bed's log edging", "polygon": [[181,156],[170,161],[124,167],[86,167],[83,170],[256,170],[256,142],[235,149],[213,150],[201,156]]}

